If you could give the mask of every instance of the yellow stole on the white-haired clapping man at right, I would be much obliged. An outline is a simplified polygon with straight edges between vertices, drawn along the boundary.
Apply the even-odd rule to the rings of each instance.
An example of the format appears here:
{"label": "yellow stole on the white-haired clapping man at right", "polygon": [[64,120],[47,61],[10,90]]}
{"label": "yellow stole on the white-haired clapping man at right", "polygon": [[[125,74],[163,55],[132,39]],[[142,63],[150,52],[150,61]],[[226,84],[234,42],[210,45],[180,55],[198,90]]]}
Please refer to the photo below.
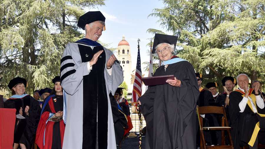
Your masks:
{"label": "yellow stole on the white-haired clapping man at right", "polygon": [[[254,94],[251,94],[253,92],[253,90],[254,89],[249,89],[249,95],[248,96],[252,99],[252,101],[253,101],[253,103],[255,105],[255,108],[257,109],[256,96]],[[236,89],[235,91],[240,92],[241,94],[243,94],[242,97],[245,96],[245,93],[242,92],[240,89]],[[249,105],[250,109],[254,113],[250,100],[248,100],[247,104]],[[258,110],[257,110],[257,114],[259,114]],[[265,117],[265,114],[259,114],[259,116],[260,117]],[[260,128],[259,128],[259,122],[258,122],[258,123],[256,123],[256,126],[255,126],[254,131],[253,131],[252,136],[251,136],[251,139],[250,139],[250,141],[248,143],[250,146],[254,145],[255,140],[256,140],[256,138],[258,136],[259,130],[260,130]]]}

